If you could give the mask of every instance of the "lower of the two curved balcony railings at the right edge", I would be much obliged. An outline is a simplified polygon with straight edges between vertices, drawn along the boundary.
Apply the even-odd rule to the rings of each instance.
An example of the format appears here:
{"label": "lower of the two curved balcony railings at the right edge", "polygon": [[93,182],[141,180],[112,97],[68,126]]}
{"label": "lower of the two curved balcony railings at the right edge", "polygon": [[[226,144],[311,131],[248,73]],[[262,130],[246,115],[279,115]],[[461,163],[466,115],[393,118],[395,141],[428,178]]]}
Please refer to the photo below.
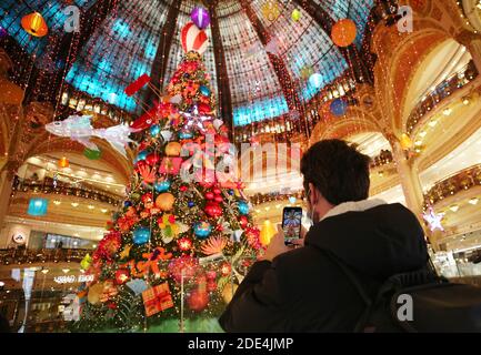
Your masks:
{"label": "lower of the two curved balcony railings at the right edge", "polygon": [[434,184],[424,195],[424,205],[429,206],[461,191],[481,185],[481,164],[470,166]]}

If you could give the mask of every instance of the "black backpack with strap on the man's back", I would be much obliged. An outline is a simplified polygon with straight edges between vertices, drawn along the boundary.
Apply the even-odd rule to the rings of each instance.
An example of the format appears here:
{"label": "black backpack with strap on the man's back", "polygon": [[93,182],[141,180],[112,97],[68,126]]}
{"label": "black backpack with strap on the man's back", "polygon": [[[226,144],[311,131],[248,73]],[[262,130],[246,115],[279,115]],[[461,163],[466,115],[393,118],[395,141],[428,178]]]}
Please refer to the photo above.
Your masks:
{"label": "black backpack with strap on the man's back", "polygon": [[357,333],[481,332],[481,287],[450,283],[427,267],[397,274],[377,287],[374,297],[348,265],[325,252],[365,303]]}

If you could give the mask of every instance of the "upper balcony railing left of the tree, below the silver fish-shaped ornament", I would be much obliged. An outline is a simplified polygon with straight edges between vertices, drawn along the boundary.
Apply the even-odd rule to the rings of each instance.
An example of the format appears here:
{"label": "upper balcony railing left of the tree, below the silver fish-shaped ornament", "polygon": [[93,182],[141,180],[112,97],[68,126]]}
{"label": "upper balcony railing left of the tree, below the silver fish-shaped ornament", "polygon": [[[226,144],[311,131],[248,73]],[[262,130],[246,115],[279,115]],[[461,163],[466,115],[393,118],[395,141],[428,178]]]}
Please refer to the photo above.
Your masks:
{"label": "upper balcony railing left of the tree, below the silver fish-shaped ornament", "polygon": [[72,186],[62,182],[54,182],[50,178],[46,178],[43,181],[23,180],[16,179],[12,185],[12,194],[17,192],[32,192],[32,193],[46,193],[46,194],[60,194],[67,196],[76,196],[88,200],[94,200],[103,203],[109,203],[113,206],[120,205],[122,197],[104,192],[96,191],[86,186]]}

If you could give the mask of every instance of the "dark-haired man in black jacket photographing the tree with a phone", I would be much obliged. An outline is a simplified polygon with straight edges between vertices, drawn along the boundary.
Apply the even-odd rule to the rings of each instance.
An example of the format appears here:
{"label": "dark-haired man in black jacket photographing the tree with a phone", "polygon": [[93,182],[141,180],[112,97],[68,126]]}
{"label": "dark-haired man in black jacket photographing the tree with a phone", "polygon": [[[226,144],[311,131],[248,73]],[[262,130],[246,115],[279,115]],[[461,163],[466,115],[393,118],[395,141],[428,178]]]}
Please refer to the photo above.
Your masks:
{"label": "dark-haired man in black jacket photographing the tree with a phone", "polygon": [[305,152],[301,173],[313,225],[297,248],[285,246],[279,227],[221,315],[226,332],[353,332],[365,305],[338,261],[371,296],[388,277],[427,266],[415,215],[368,200],[369,163],[340,140]]}

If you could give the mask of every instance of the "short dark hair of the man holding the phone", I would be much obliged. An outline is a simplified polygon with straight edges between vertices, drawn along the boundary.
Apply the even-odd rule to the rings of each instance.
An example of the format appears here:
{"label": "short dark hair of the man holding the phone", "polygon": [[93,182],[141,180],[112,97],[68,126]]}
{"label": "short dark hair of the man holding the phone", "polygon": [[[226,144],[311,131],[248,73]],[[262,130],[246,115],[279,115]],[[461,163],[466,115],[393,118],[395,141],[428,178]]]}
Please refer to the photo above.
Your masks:
{"label": "short dark hair of the man holding the phone", "polygon": [[301,160],[304,189],[308,191],[308,184],[312,183],[333,205],[365,200],[369,196],[370,160],[344,141],[320,141]]}

